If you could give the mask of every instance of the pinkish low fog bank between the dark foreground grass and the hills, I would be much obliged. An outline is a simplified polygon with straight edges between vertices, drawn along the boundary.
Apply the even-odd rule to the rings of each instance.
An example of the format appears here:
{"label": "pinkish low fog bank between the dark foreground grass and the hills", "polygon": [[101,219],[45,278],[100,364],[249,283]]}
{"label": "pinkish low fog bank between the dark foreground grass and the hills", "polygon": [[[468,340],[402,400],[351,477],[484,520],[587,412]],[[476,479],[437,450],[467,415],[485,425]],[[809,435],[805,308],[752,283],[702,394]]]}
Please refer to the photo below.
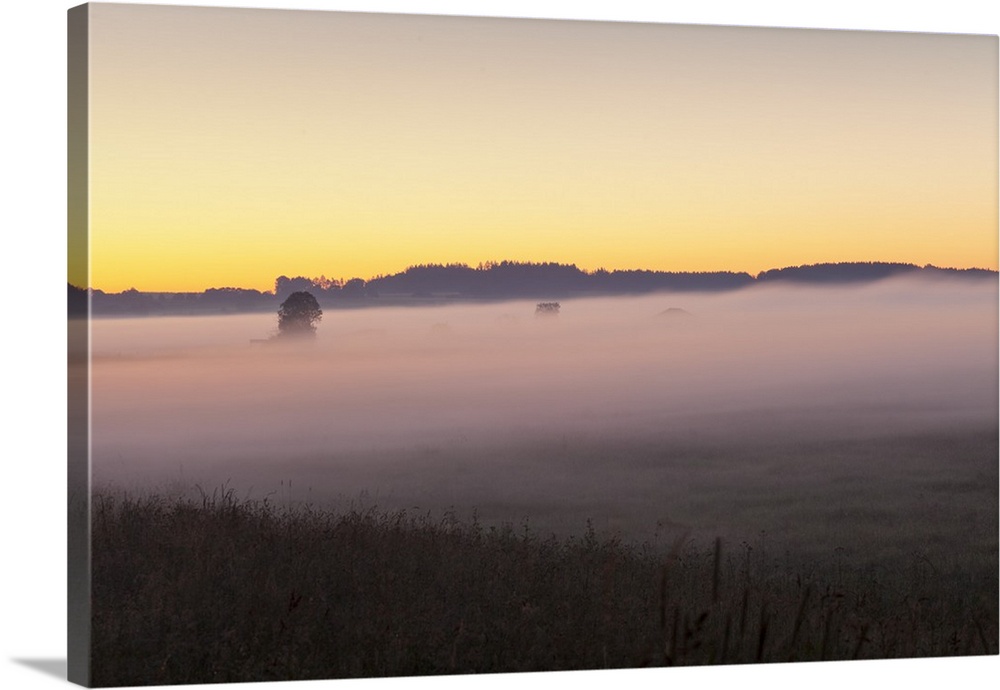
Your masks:
{"label": "pinkish low fog bank between the dark foreground grass and the hills", "polygon": [[561,300],[556,316],[345,309],[300,345],[251,342],[269,314],[99,319],[93,477],[630,536],[791,535],[804,516],[815,539],[871,491],[921,510],[912,482],[941,473],[991,482],[974,508],[994,519],[997,305],[995,281],[925,279]]}

